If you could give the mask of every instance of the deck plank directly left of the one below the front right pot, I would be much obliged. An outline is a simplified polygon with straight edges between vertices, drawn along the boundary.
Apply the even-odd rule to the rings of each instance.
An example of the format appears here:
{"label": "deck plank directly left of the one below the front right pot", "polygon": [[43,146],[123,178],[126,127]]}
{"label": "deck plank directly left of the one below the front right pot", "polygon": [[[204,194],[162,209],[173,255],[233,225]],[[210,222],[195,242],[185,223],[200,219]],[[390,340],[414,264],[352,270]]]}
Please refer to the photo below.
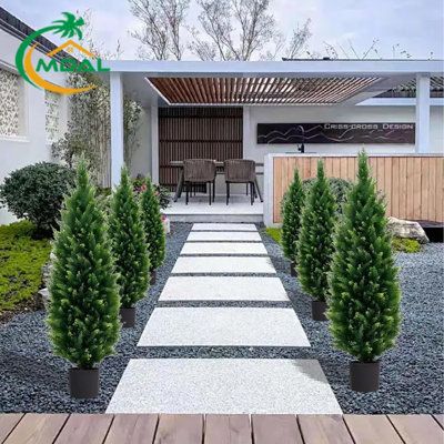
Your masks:
{"label": "deck plank directly left of the one below the front right pot", "polygon": [[297,415],[305,444],[353,444],[341,415]]}

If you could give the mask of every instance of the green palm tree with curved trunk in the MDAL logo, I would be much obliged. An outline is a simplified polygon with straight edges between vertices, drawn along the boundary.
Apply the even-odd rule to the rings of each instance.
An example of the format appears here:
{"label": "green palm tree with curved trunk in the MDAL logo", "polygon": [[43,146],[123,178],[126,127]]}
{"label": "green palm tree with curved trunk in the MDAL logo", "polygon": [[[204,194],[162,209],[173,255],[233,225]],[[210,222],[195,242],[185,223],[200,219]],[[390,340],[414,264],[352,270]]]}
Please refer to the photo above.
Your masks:
{"label": "green palm tree with curved trunk in the MDAL logo", "polygon": [[63,38],[72,38],[77,36],[79,40],[82,39],[83,33],[81,31],[81,27],[84,26],[84,20],[81,17],[75,18],[75,16],[71,12],[62,12],[64,16],[63,19],[61,20],[56,20],[50,24],[49,27],[38,29],[37,31],[32,32],[29,34],[20,44],[17,53],[16,53],[16,65],[19,71],[19,73],[23,77],[23,79],[31,83],[32,85],[37,87],[28,77],[26,70],[24,70],[24,54],[28,50],[29,47],[32,44],[38,44],[36,40],[47,33],[47,32],[52,32],[54,34],[60,34],[60,37]]}

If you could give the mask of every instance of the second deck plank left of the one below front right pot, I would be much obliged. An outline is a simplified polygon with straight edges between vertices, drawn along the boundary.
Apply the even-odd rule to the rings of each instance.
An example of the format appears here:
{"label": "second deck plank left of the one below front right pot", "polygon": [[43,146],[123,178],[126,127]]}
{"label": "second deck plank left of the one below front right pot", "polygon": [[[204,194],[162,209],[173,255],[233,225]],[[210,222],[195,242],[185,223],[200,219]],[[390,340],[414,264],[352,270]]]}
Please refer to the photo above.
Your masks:
{"label": "second deck plank left of the one below front right pot", "polygon": [[295,415],[251,415],[254,444],[303,444]]}

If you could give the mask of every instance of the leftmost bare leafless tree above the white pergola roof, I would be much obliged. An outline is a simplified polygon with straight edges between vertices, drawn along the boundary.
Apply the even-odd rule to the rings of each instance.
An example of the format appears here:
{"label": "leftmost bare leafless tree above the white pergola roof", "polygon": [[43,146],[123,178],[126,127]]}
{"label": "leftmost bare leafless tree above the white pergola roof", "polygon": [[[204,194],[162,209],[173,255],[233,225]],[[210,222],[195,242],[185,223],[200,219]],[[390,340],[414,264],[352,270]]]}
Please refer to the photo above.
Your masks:
{"label": "leftmost bare leafless tree above the white pergola roof", "polygon": [[182,32],[190,0],[129,0],[131,12],[143,24],[131,32],[139,40],[142,59],[181,60]]}

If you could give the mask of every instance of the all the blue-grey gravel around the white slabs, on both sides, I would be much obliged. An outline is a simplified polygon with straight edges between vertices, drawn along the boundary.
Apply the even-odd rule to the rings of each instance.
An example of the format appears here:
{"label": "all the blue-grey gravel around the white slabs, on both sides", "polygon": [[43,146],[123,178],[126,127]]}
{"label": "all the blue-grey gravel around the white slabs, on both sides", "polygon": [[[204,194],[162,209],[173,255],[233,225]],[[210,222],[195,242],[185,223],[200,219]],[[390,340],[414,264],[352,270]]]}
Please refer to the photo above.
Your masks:
{"label": "all the blue-grey gravel around the white slabs, on both sides", "polygon": [[[261,233],[266,250],[289,293],[311,342],[299,347],[137,347],[144,325],[182,250],[192,224],[172,224],[167,260],[158,271],[157,284],[138,304],[134,329],[122,331],[117,354],[101,365],[101,394],[75,401],[68,393],[70,364],[53,356],[47,337],[44,312],[17,315],[0,325],[0,410],[2,412],[104,412],[130,359],[142,357],[264,357],[315,359],[332,385],[344,413],[442,413],[443,411],[443,244],[425,245],[421,253],[397,255],[403,290],[403,327],[397,345],[382,359],[381,389],[359,394],[349,389],[350,356],[336,352],[327,323],[311,320],[311,300],[290,276],[290,263],[281,248]],[[159,304],[178,306],[175,303]],[[213,302],[183,303],[216,306]],[[229,302],[218,306],[283,306],[281,303]]]}

